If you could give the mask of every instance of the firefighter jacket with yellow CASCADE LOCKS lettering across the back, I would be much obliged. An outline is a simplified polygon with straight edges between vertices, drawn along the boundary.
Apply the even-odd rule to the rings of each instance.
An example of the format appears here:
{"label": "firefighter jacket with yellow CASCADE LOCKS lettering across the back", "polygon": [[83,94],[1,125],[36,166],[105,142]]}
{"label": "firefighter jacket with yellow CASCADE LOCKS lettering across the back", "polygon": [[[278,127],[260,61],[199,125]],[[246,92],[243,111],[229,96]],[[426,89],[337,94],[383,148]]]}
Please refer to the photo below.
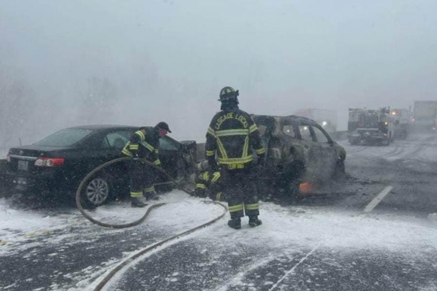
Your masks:
{"label": "firefighter jacket with yellow CASCADE LOCKS lettering across the back", "polygon": [[213,117],[205,145],[210,164],[215,164],[213,160],[217,152],[217,162],[225,169],[242,169],[253,161],[252,148],[260,158],[264,158],[266,151],[258,127],[248,113],[235,107]]}

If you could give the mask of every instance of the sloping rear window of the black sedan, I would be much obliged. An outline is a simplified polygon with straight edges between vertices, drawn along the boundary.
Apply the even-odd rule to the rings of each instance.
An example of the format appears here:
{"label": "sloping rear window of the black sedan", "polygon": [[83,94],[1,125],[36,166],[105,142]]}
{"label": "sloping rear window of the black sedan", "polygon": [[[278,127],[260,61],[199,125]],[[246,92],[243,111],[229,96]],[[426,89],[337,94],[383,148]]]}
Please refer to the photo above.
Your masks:
{"label": "sloping rear window of the black sedan", "polygon": [[89,129],[62,129],[34,143],[34,145],[55,147],[71,146],[83,139],[90,132],[92,132],[92,130]]}

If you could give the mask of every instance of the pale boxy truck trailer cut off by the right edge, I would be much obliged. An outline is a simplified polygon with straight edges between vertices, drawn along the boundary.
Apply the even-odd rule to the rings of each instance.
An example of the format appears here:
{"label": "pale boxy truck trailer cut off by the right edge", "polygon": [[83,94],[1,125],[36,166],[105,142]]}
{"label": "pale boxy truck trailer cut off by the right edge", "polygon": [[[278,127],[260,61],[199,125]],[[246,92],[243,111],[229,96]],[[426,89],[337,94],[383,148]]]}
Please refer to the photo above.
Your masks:
{"label": "pale boxy truck trailer cut off by the right edge", "polygon": [[437,101],[414,101],[413,128],[417,131],[436,131]]}

